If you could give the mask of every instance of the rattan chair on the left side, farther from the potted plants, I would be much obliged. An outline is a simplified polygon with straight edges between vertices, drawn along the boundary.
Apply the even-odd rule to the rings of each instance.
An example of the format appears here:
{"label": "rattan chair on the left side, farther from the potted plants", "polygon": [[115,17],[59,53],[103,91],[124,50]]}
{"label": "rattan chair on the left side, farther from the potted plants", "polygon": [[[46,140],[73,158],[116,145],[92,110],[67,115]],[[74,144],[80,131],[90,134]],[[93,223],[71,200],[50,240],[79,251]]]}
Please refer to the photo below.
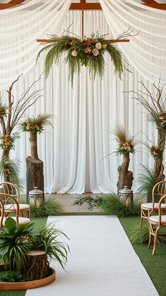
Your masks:
{"label": "rattan chair on the left side, farther from the potted plants", "polygon": [[[9,195],[14,196],[17,198],[17,201],[19,203],[19,189],[16,185],[10,183],[10,182],[2,182],[0,183],[0,193],[6,193]],[[2,198],[4,200],[4,211],[6,217],[9,215],[9,213],[14,213],[16,210],[16,204],[7,204],[8,198],[5,196]],[[21,217],[24,217],[24,213],[26,212],[25,217],[30,218],[30,205],[28,204],[19,204],[19,214]]]}

